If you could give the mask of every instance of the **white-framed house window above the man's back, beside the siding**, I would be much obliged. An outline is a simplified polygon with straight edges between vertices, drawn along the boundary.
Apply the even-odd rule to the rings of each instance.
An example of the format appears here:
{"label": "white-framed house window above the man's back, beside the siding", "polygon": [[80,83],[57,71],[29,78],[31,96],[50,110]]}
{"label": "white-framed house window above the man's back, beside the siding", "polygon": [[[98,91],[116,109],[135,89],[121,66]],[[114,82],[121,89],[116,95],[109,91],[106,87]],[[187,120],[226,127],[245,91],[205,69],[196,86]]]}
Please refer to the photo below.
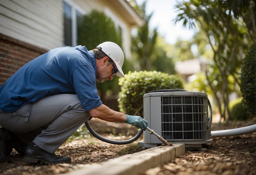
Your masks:
{"label": "white-framed house window above the man's back, beside the siding", "polygon": [[64,44],[77,45],[78,27],[83,21],[85,12],[71,0],[63,0]]}

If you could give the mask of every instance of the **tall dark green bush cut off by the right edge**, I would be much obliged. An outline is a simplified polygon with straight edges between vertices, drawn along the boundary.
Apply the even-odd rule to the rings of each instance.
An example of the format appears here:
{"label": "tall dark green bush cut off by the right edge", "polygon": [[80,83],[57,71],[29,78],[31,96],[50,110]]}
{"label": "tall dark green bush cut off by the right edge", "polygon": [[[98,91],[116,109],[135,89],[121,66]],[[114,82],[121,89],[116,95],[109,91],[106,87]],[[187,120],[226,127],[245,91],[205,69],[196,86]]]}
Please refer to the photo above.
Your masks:
{"label": "tall dark green bush cut off by the right edge", "polygon": [[248,113],[247,118],[256,116],[256,50],[253,44],[245,55],[241,67],[241,83],[239,85],[242,92],[242,103]]}

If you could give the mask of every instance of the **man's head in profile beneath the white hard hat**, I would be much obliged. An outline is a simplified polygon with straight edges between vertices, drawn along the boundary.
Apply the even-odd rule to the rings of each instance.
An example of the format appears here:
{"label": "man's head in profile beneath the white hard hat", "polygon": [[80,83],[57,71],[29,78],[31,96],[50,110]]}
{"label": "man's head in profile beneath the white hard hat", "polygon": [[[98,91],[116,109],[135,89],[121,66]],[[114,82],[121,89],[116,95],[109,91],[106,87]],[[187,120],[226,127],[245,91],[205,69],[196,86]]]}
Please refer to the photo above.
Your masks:
{"label": "man's head in profile beneath the white hard hat", "polygon": [[112,80],[117,73],[115,63],[109,62],[109,57],[107,56],[100,61],[100,66],[97,68],[97,81],[102,83],[106,80]]}

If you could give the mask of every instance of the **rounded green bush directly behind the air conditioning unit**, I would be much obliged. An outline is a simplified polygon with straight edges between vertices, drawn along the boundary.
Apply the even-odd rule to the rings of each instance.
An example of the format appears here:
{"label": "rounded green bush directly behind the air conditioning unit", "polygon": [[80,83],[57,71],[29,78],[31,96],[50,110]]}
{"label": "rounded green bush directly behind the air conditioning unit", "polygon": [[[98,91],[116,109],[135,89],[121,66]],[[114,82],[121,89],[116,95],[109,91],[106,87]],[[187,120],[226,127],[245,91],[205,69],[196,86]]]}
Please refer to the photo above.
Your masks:
{"label": "rounded green bush directly behind the air conditioning unit", "polygon": [[119,79],[119,109],[123,113],[143,117],[143,95],[151,90],[183,88],[184,81],[176,75],[157,71],[129,72]]}

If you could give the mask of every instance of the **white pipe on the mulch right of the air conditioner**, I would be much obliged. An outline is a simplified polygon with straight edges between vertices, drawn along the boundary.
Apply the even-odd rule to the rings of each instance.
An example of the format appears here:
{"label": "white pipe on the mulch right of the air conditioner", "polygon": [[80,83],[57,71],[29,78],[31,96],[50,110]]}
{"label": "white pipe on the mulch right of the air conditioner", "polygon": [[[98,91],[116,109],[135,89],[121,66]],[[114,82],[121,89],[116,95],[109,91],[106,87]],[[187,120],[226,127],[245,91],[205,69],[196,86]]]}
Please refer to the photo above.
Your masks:
{"label": "white pipe on the mulch right of the air conditioner", "polygon": [[230,130],[211,131],[211,137],[223,137],[256,132],[256,124]]}

